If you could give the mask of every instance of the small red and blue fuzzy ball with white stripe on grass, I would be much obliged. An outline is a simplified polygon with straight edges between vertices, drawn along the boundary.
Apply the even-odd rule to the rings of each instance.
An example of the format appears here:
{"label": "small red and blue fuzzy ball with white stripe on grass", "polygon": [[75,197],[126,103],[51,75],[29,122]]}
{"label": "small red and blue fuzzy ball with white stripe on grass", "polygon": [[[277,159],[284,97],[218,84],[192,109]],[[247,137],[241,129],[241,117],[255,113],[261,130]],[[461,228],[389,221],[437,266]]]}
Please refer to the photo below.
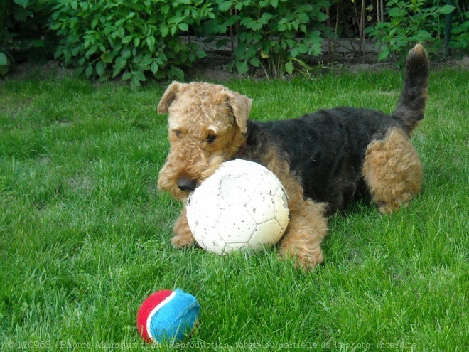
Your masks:
{"label": "small red and blue fuzzy ball with white stripe on grass", "polygon": [[147,343],[182,341],[195,328],[200,304],[180,289],[151,294],[137,314],[137,329]]}

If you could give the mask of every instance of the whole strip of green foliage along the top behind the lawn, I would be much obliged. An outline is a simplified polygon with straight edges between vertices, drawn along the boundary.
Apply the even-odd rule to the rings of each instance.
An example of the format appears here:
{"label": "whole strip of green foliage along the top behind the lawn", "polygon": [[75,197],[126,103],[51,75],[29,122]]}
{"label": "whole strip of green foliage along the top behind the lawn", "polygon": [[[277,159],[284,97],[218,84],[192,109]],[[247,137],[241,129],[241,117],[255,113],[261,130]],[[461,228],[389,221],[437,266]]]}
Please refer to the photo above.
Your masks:
{"label": "whole strip of green foliage along the top behind the lawn", "polygon": [[[442,56],[446,16],[448,48],[467,53],[469,12],[463,1],[443,0],[0,0],[0,75],[12,63],[49,60],[87,78],[182,80],[207,52],[191,38],[231,43],[229,69],[259,68],[280,78],[306,65],[324,41],[358,38],[359,58],[372,39],[379,60],[401,62],[416,41]],[[332,49],[331,49],[332,48]],[[329,50],[333,50],[333,45]]]}

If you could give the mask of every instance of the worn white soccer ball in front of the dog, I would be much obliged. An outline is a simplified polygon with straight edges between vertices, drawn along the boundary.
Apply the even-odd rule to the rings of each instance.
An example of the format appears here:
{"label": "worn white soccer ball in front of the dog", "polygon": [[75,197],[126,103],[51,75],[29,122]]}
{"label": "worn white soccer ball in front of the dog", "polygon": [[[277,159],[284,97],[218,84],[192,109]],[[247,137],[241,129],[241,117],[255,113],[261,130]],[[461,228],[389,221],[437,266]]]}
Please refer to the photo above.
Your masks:
{"label": "worn white soccer ball in front of the dog", "polygon": [[220,255],[271,247],[289,223],[286,191],[279,178],[242,159],[220,165],[190,194],[186,209],[200,247]]}

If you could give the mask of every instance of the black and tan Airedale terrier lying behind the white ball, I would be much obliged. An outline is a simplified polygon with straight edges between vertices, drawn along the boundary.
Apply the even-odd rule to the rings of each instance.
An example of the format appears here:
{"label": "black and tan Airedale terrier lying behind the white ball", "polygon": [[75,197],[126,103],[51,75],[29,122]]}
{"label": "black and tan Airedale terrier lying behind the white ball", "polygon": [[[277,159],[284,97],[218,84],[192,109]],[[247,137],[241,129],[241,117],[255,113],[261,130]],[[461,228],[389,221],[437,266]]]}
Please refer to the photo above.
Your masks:
{"label": "black and tan Airedale terrier lying behind the white ball", "polygon": [[[169,112],[171,144],[158,187],[185,201],[223,161],[266,166],[289,196],[290,220],[279,255],[313,268],[323,262],[328,214],[364,197],[382,213],[392,213],[419,191],[422,165],[409,134],[424,118],[427,87],[428,58],[421,44],[409,51],[404,89],[391,115],[340,107],[254,122],[244,95],[222,85],[173,82],[158,105],[158,113]],[[174,247],[193,245],[184,209],[173,230]]]}

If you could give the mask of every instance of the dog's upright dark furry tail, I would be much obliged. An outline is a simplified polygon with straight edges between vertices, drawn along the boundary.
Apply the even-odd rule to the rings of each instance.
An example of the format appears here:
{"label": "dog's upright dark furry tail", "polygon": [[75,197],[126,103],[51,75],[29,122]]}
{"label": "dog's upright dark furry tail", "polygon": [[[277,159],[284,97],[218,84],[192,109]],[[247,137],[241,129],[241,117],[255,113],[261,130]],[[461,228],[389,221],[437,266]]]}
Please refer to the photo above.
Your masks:
{"label": "dog's upright dark furry tail", "polygon": [[409,51],[406,60],[404,89],[392,116],[410,133],[424,119],[428,95],[428,57],[421,44]]}

